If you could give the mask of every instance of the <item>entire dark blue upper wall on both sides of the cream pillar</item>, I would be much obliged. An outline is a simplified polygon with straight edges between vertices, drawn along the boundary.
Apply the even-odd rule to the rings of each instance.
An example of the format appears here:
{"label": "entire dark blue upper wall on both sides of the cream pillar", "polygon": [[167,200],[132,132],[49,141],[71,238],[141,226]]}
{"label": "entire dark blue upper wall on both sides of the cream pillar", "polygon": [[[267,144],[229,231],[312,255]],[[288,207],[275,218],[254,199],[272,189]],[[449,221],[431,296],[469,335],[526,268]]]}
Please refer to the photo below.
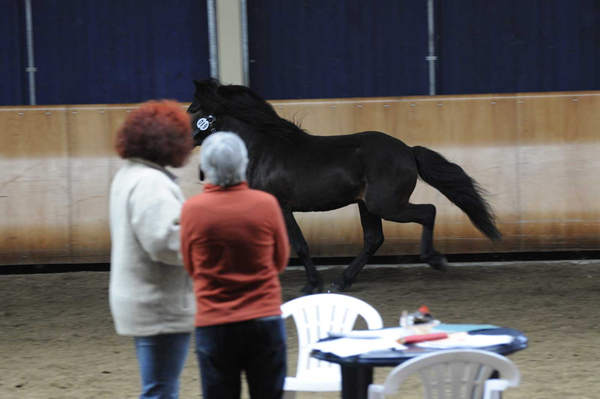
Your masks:
{"label": "entire dark blue upper wall on both sides of the cream pillar", "polygon": [[[23,0],[0,0],[0,105],[28,103]],[[435,0],[439,94],[600,90],[599,0]],[[425,0],[248,0],[263,97],[429,92]],[[38,104],[189,101],[205,0],[32,0]]]}

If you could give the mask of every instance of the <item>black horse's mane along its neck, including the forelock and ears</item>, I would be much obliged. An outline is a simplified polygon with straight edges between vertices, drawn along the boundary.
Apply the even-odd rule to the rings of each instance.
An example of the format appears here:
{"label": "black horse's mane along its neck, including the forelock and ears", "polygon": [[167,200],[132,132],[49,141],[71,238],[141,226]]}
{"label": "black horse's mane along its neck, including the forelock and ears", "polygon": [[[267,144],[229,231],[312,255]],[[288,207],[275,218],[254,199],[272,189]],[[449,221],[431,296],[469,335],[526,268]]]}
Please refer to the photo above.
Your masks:
{"label": "black horse's mane along its neck, including the forelock and ears", "polygon": [[308,136],[297,124],[280,117],[261,96],[241,85],[222,85],[216,79],[194,81],[196,92],[189,112],[202,110],[219,119],[229,116],[257,132],[297,142]]}

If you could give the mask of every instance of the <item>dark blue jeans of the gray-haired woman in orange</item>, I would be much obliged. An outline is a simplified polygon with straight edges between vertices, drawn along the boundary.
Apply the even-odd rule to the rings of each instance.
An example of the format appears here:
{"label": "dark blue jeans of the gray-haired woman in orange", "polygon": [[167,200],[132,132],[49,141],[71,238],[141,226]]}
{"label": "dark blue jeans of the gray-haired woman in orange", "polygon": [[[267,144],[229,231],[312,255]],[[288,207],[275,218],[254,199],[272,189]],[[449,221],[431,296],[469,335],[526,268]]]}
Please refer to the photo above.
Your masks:
{"label": "dark blue jeans of the gray-haired woman in orange", "polygon": [[204,399],[239,399],[246,372],[252,399],[279,399],[287,372],[281,317],[196,327],[196,355]]}

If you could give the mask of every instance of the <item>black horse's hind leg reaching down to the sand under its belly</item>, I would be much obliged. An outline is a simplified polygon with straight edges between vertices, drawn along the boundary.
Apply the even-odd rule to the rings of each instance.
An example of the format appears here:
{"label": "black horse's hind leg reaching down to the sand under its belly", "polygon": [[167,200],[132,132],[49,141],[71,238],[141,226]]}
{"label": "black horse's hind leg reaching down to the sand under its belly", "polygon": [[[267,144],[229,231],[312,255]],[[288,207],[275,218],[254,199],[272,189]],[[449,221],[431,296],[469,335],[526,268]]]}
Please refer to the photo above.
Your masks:
{"label": "black horse's hind leg reaching down to the sand under its belly", "polygon": [[331,283],[331,288],[335,291],[343,291],[350,288],[358,273],[369,261],[369,258],[383,244],[381,218],[369,212],[362,201],[358,203],[358,210],[360,211],[360,223],[363,228],[364,246],[358,256],[344,269],[342,275]]}

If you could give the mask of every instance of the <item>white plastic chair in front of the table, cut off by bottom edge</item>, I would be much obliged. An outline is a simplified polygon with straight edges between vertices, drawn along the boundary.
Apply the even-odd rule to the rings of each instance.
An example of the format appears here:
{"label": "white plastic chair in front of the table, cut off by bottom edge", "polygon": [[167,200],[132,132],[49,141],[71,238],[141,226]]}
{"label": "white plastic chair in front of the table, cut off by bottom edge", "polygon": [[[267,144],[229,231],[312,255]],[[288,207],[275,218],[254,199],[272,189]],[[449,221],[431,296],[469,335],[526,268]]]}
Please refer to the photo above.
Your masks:
{"label": "white plastic chair in front of the table, cut off by bottom edge", "polygon": [[[494,371],[502,378],[489,379]],[[453,349],[415,357],[396,366],[383,385],[369,385],[369,399],[384,399],[400,390],[410,375],[418,373],[425,399],[497,399],[521,379],[513,362],[497,353],[478,349]]]}

